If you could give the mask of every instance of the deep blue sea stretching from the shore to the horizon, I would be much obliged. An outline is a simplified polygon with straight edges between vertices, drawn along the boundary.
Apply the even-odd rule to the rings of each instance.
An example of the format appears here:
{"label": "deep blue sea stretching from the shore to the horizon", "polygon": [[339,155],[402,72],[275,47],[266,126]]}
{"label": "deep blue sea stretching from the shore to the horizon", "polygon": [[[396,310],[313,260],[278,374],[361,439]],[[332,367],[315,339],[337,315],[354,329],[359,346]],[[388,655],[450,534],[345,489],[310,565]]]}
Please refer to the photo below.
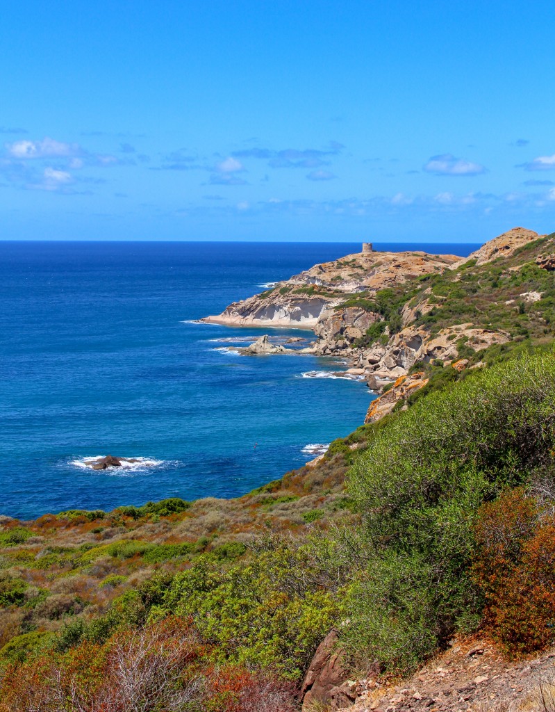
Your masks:
{"label": "deep blue sea stretching from the shore to the horizon", "polygon": [[[376,245],[461,256],[476,247]],[[362,382],[324,377],[337,361],[222,350],[263,333],[312,333],[194,320],[359,250],[0,242],[0,513],[238,496],[312,459],[307,445],[354,430],[373,396]],[[157,465],[83,467],[106,454]]]}

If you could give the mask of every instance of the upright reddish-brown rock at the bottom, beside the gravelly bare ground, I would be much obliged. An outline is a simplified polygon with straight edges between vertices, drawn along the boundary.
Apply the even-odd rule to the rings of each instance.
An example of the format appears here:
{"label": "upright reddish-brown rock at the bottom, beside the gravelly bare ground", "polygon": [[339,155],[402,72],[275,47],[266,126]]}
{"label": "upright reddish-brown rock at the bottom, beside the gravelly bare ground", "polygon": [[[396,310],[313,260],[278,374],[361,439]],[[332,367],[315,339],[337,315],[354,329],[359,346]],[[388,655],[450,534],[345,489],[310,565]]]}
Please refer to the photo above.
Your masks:
{"label": "upright reddish-brown rock at the bottom, beside the gravelly bare ground", "polygon": [[332,690],[342,684],[347,677],[344,654],[337,646],[339,636],[332,630],[317,647],[314,657],[302,681],[300,699],[302,709],[307,712],[314,703],[329,704]]}

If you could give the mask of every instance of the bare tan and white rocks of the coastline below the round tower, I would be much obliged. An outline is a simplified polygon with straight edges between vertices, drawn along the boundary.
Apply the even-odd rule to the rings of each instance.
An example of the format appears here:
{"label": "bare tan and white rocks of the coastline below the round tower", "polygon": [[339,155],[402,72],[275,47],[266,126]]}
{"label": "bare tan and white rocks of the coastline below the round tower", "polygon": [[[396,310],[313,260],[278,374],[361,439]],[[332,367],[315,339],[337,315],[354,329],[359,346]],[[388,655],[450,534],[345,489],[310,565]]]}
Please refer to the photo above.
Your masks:
{"label": "bare tan and white rocks of the coastline below the round tower", "polygon": [[[509,258],[539,238],[536,232],[517,227],[487,241],[467,258],[421,251],[379,252],[364,245],[360,253],[314,265],[201,321],[232,327],[312,330],[316,340],[302,350],[273,345],[265,335],[241,352],[310,353],[347,360],[348,371],[366,380],[370,389],[383,394],[384,389],[391,388],[387,398],[382,395],[371,405],[366,422],[373,422],[390,412],[408,390],[425,385],[425,378],[410,373],[418,362],[460,367],[461,344],[471,344],[474,352],[480,352],[510,339],[502,329],[483,328],[467,320],[430,329],[422,323],[423,318],[433,315],[438,304],[445,304],[448,298],[433,293],[426,286],[427,279],[456,273],[462,266]],[[549,256],[542,256],[540,263],[549,268]],[[390,302],[397,299],[394,319],[387,319],[379,308],[376,298],[380,295]]]}

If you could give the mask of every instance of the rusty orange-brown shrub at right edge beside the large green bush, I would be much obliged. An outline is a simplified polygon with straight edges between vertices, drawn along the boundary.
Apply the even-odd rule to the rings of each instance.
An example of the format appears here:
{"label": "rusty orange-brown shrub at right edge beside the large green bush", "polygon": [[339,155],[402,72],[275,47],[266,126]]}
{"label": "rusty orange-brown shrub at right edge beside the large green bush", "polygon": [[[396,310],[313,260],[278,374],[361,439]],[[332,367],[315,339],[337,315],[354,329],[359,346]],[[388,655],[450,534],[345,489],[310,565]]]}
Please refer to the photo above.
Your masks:
{"label": "rusty orange-brown shrub at right edge beside the large green bush", "polygon": [[482,507],[473,577],[485,597],[485,621],[511,653],[555,639],[555,517],[521,488]]}

